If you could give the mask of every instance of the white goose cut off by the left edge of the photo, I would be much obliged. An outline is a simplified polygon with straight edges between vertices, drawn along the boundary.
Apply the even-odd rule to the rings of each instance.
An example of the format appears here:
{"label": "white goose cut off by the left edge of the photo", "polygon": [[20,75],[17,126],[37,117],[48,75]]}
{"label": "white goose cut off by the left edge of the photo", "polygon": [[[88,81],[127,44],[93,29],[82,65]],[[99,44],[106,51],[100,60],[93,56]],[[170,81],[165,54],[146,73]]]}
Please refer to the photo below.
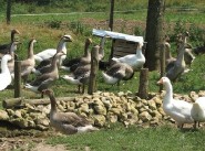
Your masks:
{"label": "white goose cut off by the left edge of the photo", "polygon": [[10,61],[12,57],[10,54],[3,55],[1,60],[1,74],[0,74],[0,90],[3,90],[7,88],[8,85],[11,84],[11,74],[8,68],[8,61]]}

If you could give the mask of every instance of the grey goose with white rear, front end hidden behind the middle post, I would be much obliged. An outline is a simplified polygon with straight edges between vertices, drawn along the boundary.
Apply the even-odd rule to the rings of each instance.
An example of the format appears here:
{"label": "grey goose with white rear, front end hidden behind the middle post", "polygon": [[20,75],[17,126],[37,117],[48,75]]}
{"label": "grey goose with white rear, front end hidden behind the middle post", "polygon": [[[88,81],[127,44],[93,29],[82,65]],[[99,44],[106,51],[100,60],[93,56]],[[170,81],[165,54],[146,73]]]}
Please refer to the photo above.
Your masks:
{"label": "grey goose with white rear, front end hidden behind the middle post", "polygon": [[91,73],[91,64],[88,64],[88,65],[81,65],[70,75],[63,75],[61,77],[66,82],[69,82],[70,84],[78,85],[79,93],[80,93],[80,86],[82,86],[82,94],[84,94],[84,87],[89,83],[90,73]]}

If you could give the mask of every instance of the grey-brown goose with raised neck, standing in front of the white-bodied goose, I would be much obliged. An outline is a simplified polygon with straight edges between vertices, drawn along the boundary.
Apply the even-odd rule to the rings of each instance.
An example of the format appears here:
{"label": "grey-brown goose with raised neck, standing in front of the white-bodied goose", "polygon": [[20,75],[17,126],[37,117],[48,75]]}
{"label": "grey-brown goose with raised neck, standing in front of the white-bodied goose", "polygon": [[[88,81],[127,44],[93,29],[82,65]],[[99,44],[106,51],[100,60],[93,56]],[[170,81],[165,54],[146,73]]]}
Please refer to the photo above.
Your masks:
{"label": "grey-brown goose with raised neck, standing in front of the white-bodied goose", "polygon": [[57,65],[57,61],[64,55],[63,52],[59,52],[55,54],[52,61],[51,71],[48,73],[42,74],[41,76],[37,77],[33,82],[30,84],[25,84],[24,87],[34,91],[34,93],[41,93],[41,97],[43,98],[43,89],[47,89],[50,87],[57,79],[59,79],[59,69]]}

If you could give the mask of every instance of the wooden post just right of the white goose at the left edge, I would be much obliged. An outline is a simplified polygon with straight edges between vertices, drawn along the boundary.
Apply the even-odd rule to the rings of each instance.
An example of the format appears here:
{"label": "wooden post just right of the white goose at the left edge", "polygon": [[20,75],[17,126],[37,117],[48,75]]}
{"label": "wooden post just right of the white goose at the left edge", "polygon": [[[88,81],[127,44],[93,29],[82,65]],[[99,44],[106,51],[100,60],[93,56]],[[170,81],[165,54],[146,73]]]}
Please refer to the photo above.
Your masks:
{"label": "wooden post just right of the white goose at the left edge", "polygon": [[14,61],[14,98],[21,97],[21,62]]}

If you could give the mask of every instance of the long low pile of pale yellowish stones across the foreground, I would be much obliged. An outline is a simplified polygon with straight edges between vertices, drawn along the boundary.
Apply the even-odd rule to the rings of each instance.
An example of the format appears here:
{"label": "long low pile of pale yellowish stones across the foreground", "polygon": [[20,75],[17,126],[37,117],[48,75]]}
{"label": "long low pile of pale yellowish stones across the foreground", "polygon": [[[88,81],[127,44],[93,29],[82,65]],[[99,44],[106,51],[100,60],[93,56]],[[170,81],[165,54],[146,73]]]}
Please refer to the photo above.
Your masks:
{"label": "long low pile of pale yellowish stones across the foreground", "polygon": [[[162,94],[150,94],[150,99],[141,99],[131,91],[102,93],[74,97],[69,101],[58,100],[59,111],[73,111],[86,117],[96,127],[106,127],[113,122],[129,125],[158,126],[163,121],[173,121],[162,109]],[[174,95],[180,99],[193,101],[198,96],[192,91],[187,95]],[[49,129],[51,106],[24,104],[19,109],[6,108],[0,110],[0,121],[8,121],[24,129]]]}

